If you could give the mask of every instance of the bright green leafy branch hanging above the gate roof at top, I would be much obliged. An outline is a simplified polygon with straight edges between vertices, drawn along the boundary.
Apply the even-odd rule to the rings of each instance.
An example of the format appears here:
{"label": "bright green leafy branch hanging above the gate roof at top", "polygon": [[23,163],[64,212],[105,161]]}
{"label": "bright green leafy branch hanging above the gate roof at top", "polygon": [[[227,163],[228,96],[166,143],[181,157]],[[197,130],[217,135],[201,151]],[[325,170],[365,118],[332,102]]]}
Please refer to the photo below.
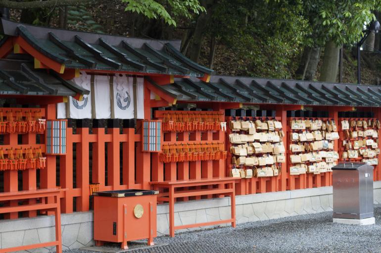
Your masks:
{"label": "bright green leafy branch hanging above the gate roof at top", "polygon": [[[125,11],[143,14],[147,18],[163,19],[168,25],[176,27],[174,17],[192,18],[192,14],[205,11],[198,0],[121,0],[127,3]],[[169,14],[169,12],[171,14]]]}

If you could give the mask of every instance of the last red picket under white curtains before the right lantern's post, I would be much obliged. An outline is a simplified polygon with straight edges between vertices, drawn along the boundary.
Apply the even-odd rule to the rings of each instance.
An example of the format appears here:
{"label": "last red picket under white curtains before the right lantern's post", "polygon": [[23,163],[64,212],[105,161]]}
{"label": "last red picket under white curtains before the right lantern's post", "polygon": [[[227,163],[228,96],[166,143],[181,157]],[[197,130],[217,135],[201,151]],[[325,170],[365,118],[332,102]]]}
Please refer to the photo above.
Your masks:
{"label": "last red picket under white curtains before the right lantern's post", "polygon": [[129,189],[135,188],[135,124],[134,120],[123,120],[123,133],[127,142],[123,142],[123,184]]}

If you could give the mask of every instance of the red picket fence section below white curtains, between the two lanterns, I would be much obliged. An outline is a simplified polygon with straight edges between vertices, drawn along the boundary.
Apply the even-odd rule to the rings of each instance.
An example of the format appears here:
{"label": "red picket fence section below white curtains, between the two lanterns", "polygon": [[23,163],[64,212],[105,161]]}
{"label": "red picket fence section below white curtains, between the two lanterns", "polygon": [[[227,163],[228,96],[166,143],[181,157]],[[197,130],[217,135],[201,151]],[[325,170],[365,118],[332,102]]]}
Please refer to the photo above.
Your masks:
{"label": "red picket fence section below white curtains, between the two lanterns", "polygon": [[[77,124],[75,134],[73,128],[68,127],[66,155],[60,157],[60,186],[68,189],[61,199],[63,213],[73,211],[73,198],[75,197],[76,211],[89,210],[90,182],[96,184],[99,191],[149,187],[149,177],[146,176],[149,175],[149,171],[146,169],[147,165],[149,166],[149,159],[147,164],[147,160],[144,161],[146,154],[140,152],[141,134],[135,134],[135,128],[124,127],[120,133],[119,122],[111,120],[108,122],[106,133],[105,127],[100,126],[93,126],[93,133],[90,133],[89,126],[86,126],[84,121],[82,123],[82,126]],[[76,187],[73,187],[73,143],[76,145]],[[89,163],[89,144],[93,145],[92,168]],[[105,157],[106,148],[107,157]],[[122,163],[120,161],[121,153]],[[107,183],[105,180],[106,169]],[[92,178],[90,178],[90,171],[92,171]]]}

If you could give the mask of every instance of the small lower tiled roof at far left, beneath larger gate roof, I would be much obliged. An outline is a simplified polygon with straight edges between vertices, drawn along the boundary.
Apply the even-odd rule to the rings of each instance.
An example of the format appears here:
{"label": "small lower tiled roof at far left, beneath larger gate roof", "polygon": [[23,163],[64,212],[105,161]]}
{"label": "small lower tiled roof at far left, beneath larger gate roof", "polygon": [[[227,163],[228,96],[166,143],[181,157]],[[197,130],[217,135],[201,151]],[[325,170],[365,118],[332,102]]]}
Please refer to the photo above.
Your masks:
{"label": "small lower tiled roof at far left, beneath larger gate roof", "polygon": [[46,70],[35,70],[27,61],[0,60],[0,94],[75,96],[88,90]]}

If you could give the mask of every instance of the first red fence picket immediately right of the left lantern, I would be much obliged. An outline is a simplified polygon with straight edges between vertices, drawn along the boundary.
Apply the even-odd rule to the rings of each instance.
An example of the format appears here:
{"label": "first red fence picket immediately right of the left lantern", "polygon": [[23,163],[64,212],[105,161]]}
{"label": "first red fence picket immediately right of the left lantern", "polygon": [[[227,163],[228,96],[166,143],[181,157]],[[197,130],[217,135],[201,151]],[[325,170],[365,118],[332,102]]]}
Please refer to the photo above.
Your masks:
{"label": "first red fence picket immediately right of the left lantern", "polygon": [[[73,128],[71,120],[68,120],[66,130],[66,155],[59,158],[59,180],[62,188],[68,189],[64,192],[65,197],[61,199],[62,213],[73,212]],[[94,158],[93,158],[94,159]]]}

